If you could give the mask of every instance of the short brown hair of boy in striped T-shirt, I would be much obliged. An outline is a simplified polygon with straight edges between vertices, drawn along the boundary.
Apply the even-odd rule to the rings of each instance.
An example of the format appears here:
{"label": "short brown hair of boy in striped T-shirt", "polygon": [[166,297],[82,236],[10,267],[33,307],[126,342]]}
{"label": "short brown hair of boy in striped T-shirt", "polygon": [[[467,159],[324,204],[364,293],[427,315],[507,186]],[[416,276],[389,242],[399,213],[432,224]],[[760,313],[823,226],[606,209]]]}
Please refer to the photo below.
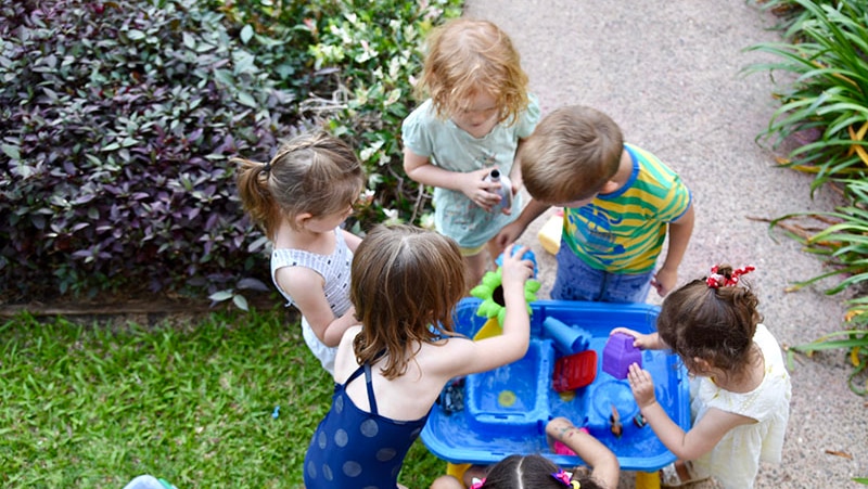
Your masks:
{"label": "short brown hair of boy in striped T-shirt", "polygon": [[519,149],[524,186],[547,204],[588,198],[617,172],[623,152],[624,137],[609,116],[580,105],[558,108]]}

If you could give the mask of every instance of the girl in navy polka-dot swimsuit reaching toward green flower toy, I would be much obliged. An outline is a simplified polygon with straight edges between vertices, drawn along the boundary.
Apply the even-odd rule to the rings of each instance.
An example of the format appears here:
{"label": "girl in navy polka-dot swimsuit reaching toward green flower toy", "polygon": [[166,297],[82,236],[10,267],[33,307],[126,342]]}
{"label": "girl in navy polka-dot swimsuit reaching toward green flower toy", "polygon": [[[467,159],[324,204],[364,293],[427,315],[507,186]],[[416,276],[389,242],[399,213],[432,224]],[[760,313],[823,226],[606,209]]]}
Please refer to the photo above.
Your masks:
{"label": "girl in navy polka-dot swimsuit reaching toward green flower toy", "polygon": [[395,488],[446,383],[525,355],[524,283],[533,263],[519,257],[526,249],[511,247],[503,258],[503,334],[472,342],[451,333],[465,273],[455,241],[409,226],[379,226],[366,236],[350,287],[363,327],[341,339],[332,407],[305,456],[307,489]]}

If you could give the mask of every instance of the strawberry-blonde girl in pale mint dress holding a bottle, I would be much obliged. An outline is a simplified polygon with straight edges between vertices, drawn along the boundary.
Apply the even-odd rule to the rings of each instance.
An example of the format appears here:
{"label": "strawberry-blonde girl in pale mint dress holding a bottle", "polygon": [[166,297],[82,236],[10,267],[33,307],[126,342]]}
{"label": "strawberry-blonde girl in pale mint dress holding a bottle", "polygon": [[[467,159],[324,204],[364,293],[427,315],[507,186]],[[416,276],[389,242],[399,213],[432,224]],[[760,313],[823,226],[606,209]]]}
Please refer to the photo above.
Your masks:
{"label": "strawberry-blonde girl in pale mint dress holding a bottle", "polygon": [[[420,95],[431,98],[401,127],[407,176],[434,186],[434,226],[454,239],[476,285],[503,246],[492,239],[518,216],[521,200],[515,151],[534,130],[539,105],[527,93],[527,75],[509,37],[487,21],[457,18],[427,39]],[[486,181],[493,168],[509,177],[512,205],[497,210],[500,183]]]}

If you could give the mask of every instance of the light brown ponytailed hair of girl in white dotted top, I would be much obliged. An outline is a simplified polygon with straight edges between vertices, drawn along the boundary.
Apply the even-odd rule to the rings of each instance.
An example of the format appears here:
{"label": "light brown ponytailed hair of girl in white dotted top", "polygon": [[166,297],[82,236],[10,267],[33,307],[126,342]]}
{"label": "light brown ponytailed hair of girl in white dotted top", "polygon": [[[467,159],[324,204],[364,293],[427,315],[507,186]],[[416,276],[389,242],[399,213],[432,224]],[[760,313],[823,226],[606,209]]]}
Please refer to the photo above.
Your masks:
{"label": "light brown ponytailed hair of girl in white dotted top", "polygon": [[235,183],[244,210],[272,241],[284,220],[295,229],[299,214],[320,217],[345,210],[365,186],[353,149],[326,132],[293,138],[266,164],[232,162],[239,165]]}

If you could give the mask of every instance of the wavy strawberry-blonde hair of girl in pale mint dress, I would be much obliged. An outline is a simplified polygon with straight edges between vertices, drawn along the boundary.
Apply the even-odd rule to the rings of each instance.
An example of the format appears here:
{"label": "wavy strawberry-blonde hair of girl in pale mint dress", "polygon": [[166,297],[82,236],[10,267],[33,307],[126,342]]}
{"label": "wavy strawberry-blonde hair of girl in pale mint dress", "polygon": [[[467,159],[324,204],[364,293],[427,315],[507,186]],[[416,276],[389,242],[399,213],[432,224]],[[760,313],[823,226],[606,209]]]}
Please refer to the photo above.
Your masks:
{"label": "wavy strawberry-blonde hair of girl in pale mint dress", "polygon": [[527,75],[506,33],[488,21],[455,18],[435,27],[417,94],[431,96],[437,116],[467,108],[468,101],[488,93],[500,107],[498,123],[513,124],[527,107]]}

